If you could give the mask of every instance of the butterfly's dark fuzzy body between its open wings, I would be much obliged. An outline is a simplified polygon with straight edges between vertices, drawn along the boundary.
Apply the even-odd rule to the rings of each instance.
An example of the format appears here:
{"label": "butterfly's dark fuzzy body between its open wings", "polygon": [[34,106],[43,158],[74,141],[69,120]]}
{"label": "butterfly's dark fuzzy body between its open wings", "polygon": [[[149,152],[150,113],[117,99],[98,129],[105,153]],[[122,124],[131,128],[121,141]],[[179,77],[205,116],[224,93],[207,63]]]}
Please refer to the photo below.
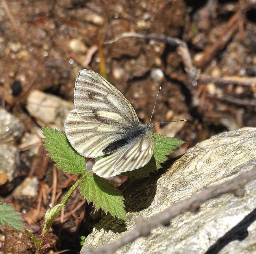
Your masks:
{"label": "butterfly's dark fuzzy body between its open wings", "polygon": [[131,128],[124,134],[121,139],[117,139],[116,141],[110,143],[106,146],[102,152],[104,154],[110,154],[115,152],[117,149],[122,148],[125,145],[133,144],[138,141],[141,135],[145,135],[149,132],[147,125],[139,124]]}

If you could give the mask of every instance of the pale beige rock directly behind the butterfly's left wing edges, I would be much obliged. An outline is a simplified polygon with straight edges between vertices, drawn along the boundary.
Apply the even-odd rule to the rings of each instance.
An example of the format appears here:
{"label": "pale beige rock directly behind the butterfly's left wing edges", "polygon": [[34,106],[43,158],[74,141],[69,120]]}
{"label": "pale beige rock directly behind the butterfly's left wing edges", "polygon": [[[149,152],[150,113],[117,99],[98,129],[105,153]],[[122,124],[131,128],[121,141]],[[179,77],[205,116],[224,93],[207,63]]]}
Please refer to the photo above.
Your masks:
{"label": "pale beige rock directly behind the butterfly's left wing edges", "polygon": [[64,130],[67,113],[74,108],[74,103],[63,100],[39,90],[33,90],[27,99],[26,109],[38,124],[57,130]]}

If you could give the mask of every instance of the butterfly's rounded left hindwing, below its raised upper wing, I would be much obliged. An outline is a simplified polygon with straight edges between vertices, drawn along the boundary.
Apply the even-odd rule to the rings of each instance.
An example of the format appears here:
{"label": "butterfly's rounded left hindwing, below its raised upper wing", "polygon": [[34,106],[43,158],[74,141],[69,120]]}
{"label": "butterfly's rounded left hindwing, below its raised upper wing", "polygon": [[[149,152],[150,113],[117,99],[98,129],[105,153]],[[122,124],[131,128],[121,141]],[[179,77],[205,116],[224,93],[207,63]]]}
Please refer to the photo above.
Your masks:
{"label": "butterfly's rounded left hindwing, below its raised upper wing", "polygon": [[76,109],[70,111],[65,120],[65,132],[71,145],[82,156],[96,158],[109,143],[120,138],[121,128],[107,124],[92,124],[82,121]]}

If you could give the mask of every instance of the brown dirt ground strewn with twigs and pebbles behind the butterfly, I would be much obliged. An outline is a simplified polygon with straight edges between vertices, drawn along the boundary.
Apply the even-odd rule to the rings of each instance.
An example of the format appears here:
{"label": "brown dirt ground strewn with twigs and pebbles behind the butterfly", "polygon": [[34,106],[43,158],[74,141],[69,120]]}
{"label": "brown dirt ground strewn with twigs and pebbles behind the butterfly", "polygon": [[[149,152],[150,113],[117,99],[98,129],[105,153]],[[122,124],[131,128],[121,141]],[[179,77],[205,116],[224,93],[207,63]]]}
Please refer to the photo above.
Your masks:
{"label": "brown dirt ground strewn with twigs and pebbles behind the butterfly", "polygon": [[[37,89],[72,103],[80,69],[105,76],[143,123],[161,86],[153,121],[187,120],[154,130],[186,142],[173,156],[217,133],[256,126],[255,17],[254,0],[0,0],[1,107],[24,124],[23,134],[11,140],[19,154],[13,186],[36,177],[40,193],[35,202],[20,202],[9,187],[1,200],[26,219],[33,216],[28,227],[39,235],[52,197],[58,203],[75,180],[53,171],[42,146],[32,152],[20,144],[43,125],[26,107],[30,93]],[[92,211],[74,193],[46,239],[46,252],[79,252],[80,236],[99,216]],[[1,243],[4,251],[8,243]]]}

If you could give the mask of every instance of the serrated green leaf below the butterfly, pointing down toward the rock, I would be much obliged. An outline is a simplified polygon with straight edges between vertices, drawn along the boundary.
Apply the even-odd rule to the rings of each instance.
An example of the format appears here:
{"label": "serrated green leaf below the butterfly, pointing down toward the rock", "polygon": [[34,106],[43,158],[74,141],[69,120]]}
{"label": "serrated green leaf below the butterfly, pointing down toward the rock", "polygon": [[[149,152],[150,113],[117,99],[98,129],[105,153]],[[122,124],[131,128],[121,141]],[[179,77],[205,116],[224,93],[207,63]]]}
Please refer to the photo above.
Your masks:
{"label": "serrated green leaf below the butterfly, pointing down toward the rock", "polygon": [[80,192],[88,203],[93,201],[97,210],[101,208],[105,213],[109,212],[114,217],[126,220],[124,198],[108,180],[88,174],[81,181]]}

